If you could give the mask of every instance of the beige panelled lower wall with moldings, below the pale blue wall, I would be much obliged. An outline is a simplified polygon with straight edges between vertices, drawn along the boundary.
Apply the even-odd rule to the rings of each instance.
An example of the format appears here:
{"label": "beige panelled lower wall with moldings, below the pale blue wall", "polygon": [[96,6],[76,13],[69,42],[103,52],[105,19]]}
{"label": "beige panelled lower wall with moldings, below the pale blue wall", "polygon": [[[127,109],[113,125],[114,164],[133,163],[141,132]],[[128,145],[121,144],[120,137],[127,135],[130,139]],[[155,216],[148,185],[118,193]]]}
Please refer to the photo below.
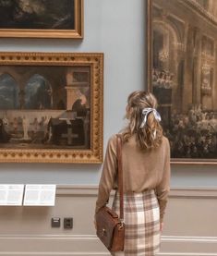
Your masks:
{"label": "beige panelled lower wall with moldings, below the pale blue wall", "polygon": [[[33,208],[29,209],[25,206],[19,206],[15,207],[15,209],[13,207],[15,211],[11,212],[11,208],[4,207],[4,214],[0,214],[2,216],[0,222],[2,221],[3,224],[3,229],[0,233],[0,256],[109,256],[110,253],[105,250],[102,243],[95,236],[92,223],[89,220],[86,222],[86,225],[88,225],[87,229],[83,229],[81,223],[75,221],[77,226],[72,230],[72,233],[64,229],[55,230],[47,227],[49,226],[48,222],[51,219],[50,212],[53,213],[52,211],[54,211],[55,215],[63,213],[59,215],[61,217],[71,211],[73,217],[75,216],[75,219],[78,219],[80,217],[79,208],[77,208],[76,213],[75,209],[73,210],[69,206],[70,203],[72,205],[75,203],[74,207],[81,207],[81,211],[85,211],[85,204],[83,204],[83,207],[83,205],[80,205],[80,202],[84,200],[87,203],[87,207],[91,207],[97,193],[97,186],[57,185],[55,207],[35,209],[38,213],[42,214],[39,218],[36,217],[37,213],[31,215],[34,210]],[[114,191],[112,193],[113,196]],[[209,214],[209,207],[213,206],[213,211],[216,209],[213,202],[217,199],[217,189],[171,188],[170,198],[172,210],[170,214],[172,215],[166,220],[166,222],[170,222],[167,223],[170,227],[167,230],[165,228],[165,235],[162,236],[162,252],[159,253],[159,256],[217,256],[217,237],[214,226],[210,226],[213,224],[215,215],[213,213]],[[196,203],[194,204],[194,202]],[[203,216],[203,213],[199,213],[199,220],[205,220],[205,232],[201,232],[201,229],[197,228],[198,219],[195,219],[197,217],[196,214],[201,209],[200,205],[203,203],[206,205],[206,217]],[[187,213],[183,210],[186,206],[190,207]],[[183,211],[184,217],[179,216],[177,211]],[[7,213],[9,214],[7,215]],[[26,219],[26,216],[29,219]],[[181,221],[181,224],[177,222],[176,216]],[[13,219],[10,220],[10,218]],[[189,231],[188,228],[188,221],[192,220],[195,225],[195,231]],[[12,223],[8,221],[12,221]],[[31,221],[32,231],[28,228],[31,225]],[[42,229],[45,226],[44,230],[42,230],[42,235],[41,226],[36,226],[38,221],[41,222],[39,224],[41,224]],[[11,232],[7,231],[6,225],[4,226],[7,222],[11,223]],[[166,227],[168,227],[167,224]],[[34,226],[36,227],[36,232],[34,231]],[[187,228],[186,233],[184,228]],[[4,230],[6,230],[5,234],[7,235],[4,234]],[[15,230],[14,234],[13,230]],[[23,230],[24,232],[22,232]],[[185,234],[187,236],[183,236]],[[191,235],[194,235],[194,237],[191,237]],[[204,237],[197,237],[197,235],[204,235]],[[212,237],[209,237],[209,235]]]}

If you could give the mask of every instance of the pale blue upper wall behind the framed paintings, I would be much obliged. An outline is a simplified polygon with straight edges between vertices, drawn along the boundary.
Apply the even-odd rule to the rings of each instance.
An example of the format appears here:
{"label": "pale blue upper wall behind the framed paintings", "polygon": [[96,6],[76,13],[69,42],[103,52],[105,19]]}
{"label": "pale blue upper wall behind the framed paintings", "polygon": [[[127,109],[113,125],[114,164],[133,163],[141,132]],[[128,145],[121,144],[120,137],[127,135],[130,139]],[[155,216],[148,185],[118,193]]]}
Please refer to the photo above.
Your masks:
{"label": "pale blue upper wall behind the framed paintings", "polygon": [[[85,0],[84,40],[1,39],[0,51],[103,52],[104,148],[124,125],[127,95],[145,88],[145,1]],[[216,187],[216,166],[173,165],[173,187]],[[1,183],[95,185],[102,165],[0,164]]]}

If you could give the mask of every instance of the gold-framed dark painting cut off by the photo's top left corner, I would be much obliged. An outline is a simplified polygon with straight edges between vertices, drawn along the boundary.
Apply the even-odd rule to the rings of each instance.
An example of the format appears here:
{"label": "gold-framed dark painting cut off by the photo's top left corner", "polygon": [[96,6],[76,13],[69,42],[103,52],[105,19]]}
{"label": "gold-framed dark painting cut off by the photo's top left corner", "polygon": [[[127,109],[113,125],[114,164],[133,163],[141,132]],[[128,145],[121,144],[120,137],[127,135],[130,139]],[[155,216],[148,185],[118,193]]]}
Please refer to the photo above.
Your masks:
{"label": "gold-framed dark painting cut off by the photo's top left corner", "polygon": [[82,38],[83,0],[0,0],[0,37]]}

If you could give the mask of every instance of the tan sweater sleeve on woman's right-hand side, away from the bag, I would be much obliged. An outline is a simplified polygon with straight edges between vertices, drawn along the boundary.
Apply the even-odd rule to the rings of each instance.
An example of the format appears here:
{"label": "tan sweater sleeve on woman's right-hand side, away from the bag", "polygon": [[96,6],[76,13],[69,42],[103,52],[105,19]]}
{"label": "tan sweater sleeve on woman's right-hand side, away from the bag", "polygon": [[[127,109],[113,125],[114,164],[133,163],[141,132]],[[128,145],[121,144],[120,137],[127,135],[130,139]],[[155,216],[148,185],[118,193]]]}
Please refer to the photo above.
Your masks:
{"label": "tan sweater sleeve on woman's right-hand side, away from the bag", "polygon": [[170,191],[170,144],[169,140],[166,139],[165,154],[164,154],[164,166],[163,166],[163,177],[161,182],[156,188],[157,199],[160,207],[160,221],[163,222],[163,215],[167,203],[168,194]]}

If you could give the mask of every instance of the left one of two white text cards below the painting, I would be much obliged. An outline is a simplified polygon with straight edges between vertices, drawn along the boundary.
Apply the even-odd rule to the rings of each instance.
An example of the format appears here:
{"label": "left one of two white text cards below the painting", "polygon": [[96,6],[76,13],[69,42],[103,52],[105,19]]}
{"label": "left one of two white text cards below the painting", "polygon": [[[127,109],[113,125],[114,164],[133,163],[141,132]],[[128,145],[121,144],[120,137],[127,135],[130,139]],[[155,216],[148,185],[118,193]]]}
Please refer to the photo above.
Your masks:
{"label": "left one of two white text cards below the painting", "polygon": [[23,184],[0,184],[0,205],[22,205]]}

